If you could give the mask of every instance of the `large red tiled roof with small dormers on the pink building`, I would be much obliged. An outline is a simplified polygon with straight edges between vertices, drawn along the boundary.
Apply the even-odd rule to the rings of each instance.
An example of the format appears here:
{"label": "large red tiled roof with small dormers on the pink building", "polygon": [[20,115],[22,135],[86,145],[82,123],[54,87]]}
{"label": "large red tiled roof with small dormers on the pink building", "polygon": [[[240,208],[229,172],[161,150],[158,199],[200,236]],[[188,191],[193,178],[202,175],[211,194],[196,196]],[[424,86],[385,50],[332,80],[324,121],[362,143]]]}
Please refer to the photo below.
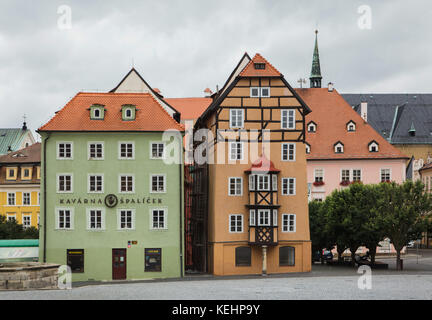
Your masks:
{"label": "large red tiled roof with small dormers on the pink building", "polygon": [[[306,129],[306,142],[311,146],[308,160],[408,159],[365,122],[336,90],[312,88],[296,89],[296,92],[312,110],[306,116],[306,123],[314,121],[317,124],[315,133]],[[350,120],[356,123],[354,132],[347,131]],[[368,144],[373,140],[379,145],[378,152],[369,152]],[[338,141],[344,144],[344,152],[340,154],[334,152],[334,144]]]}

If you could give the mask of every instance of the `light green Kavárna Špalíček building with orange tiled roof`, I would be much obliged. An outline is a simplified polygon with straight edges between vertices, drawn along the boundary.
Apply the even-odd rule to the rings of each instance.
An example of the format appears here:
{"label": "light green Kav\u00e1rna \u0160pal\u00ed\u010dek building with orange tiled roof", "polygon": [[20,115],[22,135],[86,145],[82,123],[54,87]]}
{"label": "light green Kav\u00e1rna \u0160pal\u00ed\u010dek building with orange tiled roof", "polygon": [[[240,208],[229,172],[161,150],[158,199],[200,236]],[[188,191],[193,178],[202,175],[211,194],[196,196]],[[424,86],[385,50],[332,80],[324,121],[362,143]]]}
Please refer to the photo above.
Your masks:
{"label": "light green Kav\u00e1rna \u0160pal\u00ed\u010dek building with orange tiled roof", "polygon": [[181,277],[183,166],[166,161],[181,129],[150,95],[116,93],[78,94],[41,127],[39,261],[73,281]]}

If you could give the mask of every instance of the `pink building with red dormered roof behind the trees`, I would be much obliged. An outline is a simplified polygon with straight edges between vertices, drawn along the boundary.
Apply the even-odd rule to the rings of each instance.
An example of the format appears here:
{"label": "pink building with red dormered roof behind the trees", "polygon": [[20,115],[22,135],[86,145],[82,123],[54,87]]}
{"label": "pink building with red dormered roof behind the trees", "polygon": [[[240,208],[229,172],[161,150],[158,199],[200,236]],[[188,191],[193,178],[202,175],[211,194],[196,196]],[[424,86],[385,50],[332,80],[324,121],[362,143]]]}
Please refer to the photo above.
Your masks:
{"label": "pink building with red dormered roof behind the trees", "polygon": [[367,104],[360,116],[332,86],[296,91],[312,109],[306,116],[310,200],[353,182],[405,181],[409,158],[367,123]]}

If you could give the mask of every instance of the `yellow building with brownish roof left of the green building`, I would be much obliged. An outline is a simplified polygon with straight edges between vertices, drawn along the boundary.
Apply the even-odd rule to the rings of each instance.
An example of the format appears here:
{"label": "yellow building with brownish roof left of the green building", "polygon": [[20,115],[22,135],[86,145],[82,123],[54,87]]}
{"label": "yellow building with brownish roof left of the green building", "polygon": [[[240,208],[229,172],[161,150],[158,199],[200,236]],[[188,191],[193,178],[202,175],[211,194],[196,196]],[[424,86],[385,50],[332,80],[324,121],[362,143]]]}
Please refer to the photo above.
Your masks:
{"label": "yellow building with brownish roof left of the green building", "polygon": [[41,144],[0,156],[0,214],[25,228],[39,224]]}

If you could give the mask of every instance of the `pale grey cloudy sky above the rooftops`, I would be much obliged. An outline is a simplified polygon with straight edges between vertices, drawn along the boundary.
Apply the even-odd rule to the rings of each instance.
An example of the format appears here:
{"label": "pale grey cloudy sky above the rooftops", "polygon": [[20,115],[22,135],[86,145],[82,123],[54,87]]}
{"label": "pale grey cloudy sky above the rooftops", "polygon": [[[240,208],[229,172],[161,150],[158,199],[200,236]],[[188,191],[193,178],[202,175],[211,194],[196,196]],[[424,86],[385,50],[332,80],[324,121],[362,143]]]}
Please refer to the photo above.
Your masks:
{"label": "pale grey cloudy sky above the rooftops", "polygon": [[431,13],[430,0],[0,0],[0,127],[26,114],[37,129],[133,64],[165,97],[202,96],[259,52],[298,87],[317,27],[323,84],[430,93]]}

